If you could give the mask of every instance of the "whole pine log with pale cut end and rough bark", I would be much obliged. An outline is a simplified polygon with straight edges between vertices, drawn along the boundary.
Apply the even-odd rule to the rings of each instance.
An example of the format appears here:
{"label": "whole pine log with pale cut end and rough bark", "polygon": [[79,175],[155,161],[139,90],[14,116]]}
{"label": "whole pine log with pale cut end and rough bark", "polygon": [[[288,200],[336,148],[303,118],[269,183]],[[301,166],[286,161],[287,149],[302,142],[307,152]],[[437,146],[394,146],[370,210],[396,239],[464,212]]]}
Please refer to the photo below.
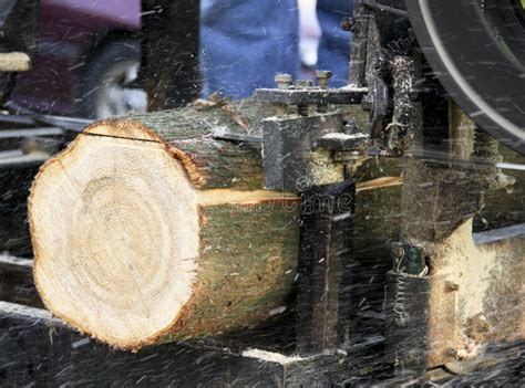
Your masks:
{"label": "whole pine log with pale cut end and rough bark", "polygon": [[262,190],[267,105],[89,126],[34,180],[33,275],[45,306],[123,349],[251,327],[281,312],[298,260],[294,195]]}

